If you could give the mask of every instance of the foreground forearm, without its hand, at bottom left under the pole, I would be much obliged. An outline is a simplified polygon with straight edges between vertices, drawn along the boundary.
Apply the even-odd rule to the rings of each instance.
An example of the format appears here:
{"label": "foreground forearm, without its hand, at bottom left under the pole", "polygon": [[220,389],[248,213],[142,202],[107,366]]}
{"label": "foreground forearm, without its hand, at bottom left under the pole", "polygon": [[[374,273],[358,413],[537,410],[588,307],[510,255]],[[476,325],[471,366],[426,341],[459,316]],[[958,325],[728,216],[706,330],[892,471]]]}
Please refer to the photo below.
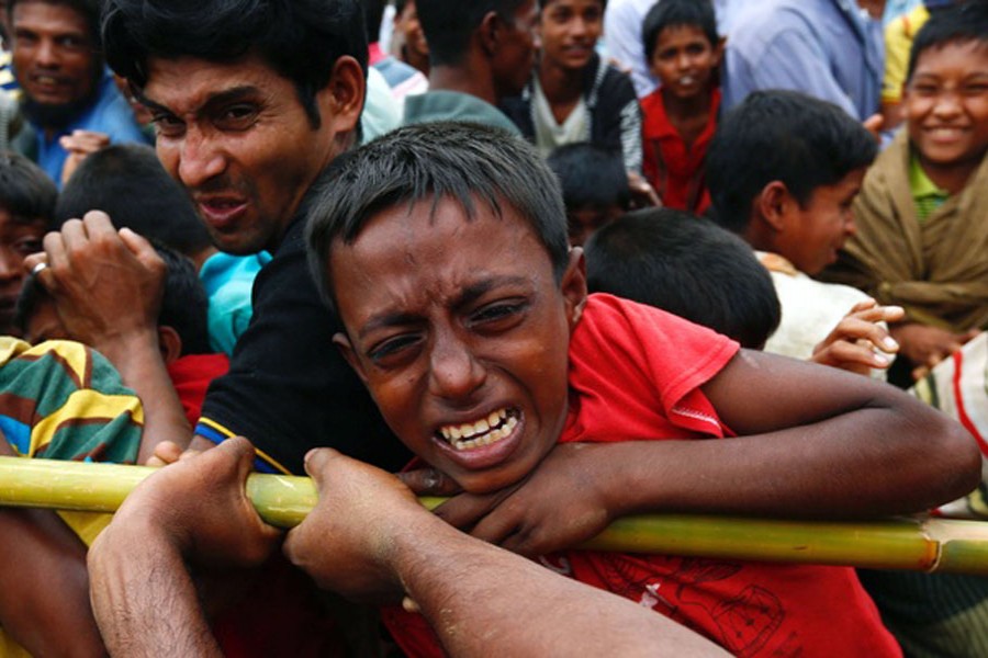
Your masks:
{"label": "foreground forearm, without its hand, at bottom left under the pole", "polygon": [[89,569],[93,613],[111,655],[222,656],[184,560],[151,521],[111,524],[90,551]]}

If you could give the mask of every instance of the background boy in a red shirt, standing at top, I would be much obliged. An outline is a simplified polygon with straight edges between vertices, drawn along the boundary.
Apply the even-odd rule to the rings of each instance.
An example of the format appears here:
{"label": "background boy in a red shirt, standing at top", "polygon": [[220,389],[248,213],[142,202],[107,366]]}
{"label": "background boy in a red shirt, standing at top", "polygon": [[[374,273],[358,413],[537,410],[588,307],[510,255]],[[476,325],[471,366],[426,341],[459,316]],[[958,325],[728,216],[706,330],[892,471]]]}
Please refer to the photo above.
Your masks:
{"label": "background boy in a red shirt, standing at top", "polygon": [[720,109],[723,39],[709,0],[662,0],[642,25],[645,56],[661,86],[641,100],[645,180],[666,207],[710,205],[704,158]]}

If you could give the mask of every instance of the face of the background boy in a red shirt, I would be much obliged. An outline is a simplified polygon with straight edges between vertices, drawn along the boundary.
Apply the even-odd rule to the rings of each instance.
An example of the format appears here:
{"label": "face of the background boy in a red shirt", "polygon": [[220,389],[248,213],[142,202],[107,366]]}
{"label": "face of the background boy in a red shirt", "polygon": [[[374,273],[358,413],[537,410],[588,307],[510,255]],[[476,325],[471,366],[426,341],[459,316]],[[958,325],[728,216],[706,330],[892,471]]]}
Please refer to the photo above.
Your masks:
{"label": "face of the background boy in a red shirt", "polygon": [[722,50],[696,25],[671,25],[655,38],[649,67],[665,93],[689,99],[709,89]]}

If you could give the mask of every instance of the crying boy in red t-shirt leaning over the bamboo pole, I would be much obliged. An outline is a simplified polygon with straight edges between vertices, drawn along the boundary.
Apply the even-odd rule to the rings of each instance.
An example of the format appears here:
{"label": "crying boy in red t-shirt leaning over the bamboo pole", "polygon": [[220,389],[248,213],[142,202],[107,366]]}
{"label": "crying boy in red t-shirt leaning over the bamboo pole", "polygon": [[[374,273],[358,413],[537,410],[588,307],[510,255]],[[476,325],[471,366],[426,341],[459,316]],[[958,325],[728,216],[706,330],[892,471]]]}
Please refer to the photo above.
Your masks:
{"label": "crying boy in red t-shirt leaning over the bamboo pole", "polygon": [[[559,442],[630,442],[648,464],[641,480],[628,469],[614,483],[643,498],[605,518],[710,510],[722,497],[753,512],[765,497],[808,494],[804,485],[826,491],[821,476],[853,489],[852,507],[917,486],[939,497],[957,474],[952,490],[977,479],[963,430],[890,388],[739,352],[658,309],[587,298],[551,171],[497,133],[459,124],[393,133],[325,180],[310,211],[313,272],[346,329],[335,342],[398,438],[470,494],[526,480]],[[746,436],[694,441],[736,433]],[[928,454],[929,436],[957,452]],[[771,457],[766,446],[777,449]],[[671,467],[650,462],[654,447]],[[602,472],[617,449],[597,453]],[[865,453],[896,464],[895,477],[852,476]],[[956,470],[931,466],[934,457]],[[900,469],[910,475],[892,481]],[[700,481],[719,483],[717,494]],[[561,511],[566,501],[554,502]],[[850,569],[580,552],[542,560],[736,654],[898,655]],[[438,651],[420,619],[392,610],[385,620],[408,654]]]}

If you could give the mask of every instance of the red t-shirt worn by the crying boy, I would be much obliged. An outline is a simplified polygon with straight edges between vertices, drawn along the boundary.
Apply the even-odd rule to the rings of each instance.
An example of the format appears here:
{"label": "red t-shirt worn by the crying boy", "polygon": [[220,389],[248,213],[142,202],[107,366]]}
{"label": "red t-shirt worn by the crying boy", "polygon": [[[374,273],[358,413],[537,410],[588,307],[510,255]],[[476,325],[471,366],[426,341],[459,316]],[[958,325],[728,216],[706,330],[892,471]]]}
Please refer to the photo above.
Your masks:
{"label": "red t-shirt worn by the crying boy", "polygon": [[[664,311],[591,295],[570,343],[571,405],[560,441],[731,436],[699,387],[737,351]],[[540,561],[738,656],[901,656],[851,568],[582,551]],[[420,615],[390,608],[382,616],[409,656],[442,655]]]}

